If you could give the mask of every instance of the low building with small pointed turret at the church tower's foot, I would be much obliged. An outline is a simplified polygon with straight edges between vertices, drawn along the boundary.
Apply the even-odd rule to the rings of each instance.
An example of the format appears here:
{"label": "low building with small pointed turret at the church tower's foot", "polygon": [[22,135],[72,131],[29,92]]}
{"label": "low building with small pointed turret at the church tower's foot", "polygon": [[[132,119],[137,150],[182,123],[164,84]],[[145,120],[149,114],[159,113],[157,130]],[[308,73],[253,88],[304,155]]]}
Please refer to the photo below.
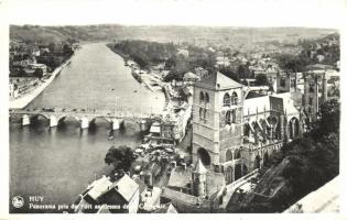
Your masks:
{"label": "low building with small pointed turret at the church tower's foot", "polygon": [[207,169],[202,161],[195,167],[176,166],[163,188],[161,204],[171,202],[178,212],[214,212],[219,209],[225,193],[225,178]]}

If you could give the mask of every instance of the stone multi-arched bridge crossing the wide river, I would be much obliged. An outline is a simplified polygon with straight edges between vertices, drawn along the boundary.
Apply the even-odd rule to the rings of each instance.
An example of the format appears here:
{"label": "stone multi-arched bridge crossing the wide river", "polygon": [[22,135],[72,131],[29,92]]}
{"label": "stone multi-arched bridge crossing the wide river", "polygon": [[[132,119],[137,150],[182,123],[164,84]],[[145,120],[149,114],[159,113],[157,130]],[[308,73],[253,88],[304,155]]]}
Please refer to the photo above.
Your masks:
{"label": "stone multi-arched bridge crossing the wide river", "polygon": [[119,129],[124,120],[133,121],[140,124],[141,130],[145,130],[149,122],[160,119],[160,114],[144,114],[128,111],[110,111],[110,110],[86,110],[86,109],[55,109],[43,108],[40,110],[10,110],[11,116],[20,116],[22,125],[29,125],[33,120],[43,117],[50,121],[50,127],[57,127],[65,119],[75,119],[79,122],[80,129],[87,129],[97,119],[104,119],[111,124],[112,130]]}

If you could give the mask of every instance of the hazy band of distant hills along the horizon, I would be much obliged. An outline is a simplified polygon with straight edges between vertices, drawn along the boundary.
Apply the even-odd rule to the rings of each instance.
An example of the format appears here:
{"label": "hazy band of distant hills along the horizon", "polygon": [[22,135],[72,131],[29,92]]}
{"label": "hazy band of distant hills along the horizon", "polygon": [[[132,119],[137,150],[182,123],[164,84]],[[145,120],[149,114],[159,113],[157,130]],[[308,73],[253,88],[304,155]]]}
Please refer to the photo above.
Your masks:
{"label": "hazy band of distant hills along the horizon", "polygon": [[11,25],[10,38],[19,41],[52,42],[76,38],[78,41],[145,40],[156,42],[256,43],[280,41],[296,43],[299,38],[318,38],[336,32],[328,29],[304,28],[209,28],[209,26],[124,26],[101,25]]}

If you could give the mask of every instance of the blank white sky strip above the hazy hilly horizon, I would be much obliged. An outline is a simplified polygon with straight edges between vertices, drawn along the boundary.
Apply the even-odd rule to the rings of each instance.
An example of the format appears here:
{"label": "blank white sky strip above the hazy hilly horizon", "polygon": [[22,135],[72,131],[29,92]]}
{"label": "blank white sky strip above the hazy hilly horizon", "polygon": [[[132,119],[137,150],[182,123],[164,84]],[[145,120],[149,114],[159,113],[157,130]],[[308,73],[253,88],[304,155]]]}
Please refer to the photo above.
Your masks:
{"label": "blank white sky strip above the hazy hilly horizon", "polygon": [[10,24],[339,28],[347,0],[0,0]]}

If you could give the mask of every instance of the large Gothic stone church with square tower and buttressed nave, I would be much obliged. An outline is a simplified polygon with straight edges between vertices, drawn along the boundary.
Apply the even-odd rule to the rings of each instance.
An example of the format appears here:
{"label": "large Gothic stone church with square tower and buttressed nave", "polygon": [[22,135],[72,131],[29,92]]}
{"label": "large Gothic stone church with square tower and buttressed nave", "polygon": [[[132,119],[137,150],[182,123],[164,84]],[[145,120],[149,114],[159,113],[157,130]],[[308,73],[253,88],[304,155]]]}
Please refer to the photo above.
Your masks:
{"label": "large Gothic stone church with square tower and buttressed nave", "polygon": [[303,128],[289,92],[245,99],[242,90],[220,73],[194,85],[193,162],[202,160],[227,184],[261,167]]}

